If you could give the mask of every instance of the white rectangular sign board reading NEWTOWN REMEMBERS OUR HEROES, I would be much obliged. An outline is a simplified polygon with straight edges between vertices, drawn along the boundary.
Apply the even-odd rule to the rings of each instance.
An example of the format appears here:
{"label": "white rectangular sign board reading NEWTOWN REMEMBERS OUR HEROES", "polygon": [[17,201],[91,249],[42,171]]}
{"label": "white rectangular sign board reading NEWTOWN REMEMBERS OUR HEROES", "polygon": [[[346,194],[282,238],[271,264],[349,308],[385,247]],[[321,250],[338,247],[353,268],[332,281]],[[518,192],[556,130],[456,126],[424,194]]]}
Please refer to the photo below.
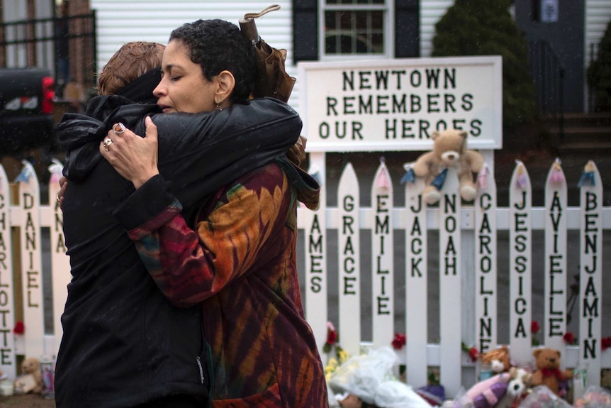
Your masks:
{"label": "white rectangular sign board reading NEWTOWN REMEMBERS OUR HEROES", "polygon": [[500,56],[299,62],[310,152],[429,150],[435,130],[469,132],[469,148],[502,143]]}

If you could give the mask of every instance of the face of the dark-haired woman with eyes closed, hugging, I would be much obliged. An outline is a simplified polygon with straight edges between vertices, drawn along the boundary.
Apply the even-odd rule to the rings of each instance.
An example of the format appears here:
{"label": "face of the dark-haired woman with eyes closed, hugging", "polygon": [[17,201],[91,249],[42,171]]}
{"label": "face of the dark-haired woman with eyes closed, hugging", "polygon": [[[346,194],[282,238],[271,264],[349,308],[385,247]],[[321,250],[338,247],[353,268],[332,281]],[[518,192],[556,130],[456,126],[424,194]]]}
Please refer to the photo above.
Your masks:
{"label": "face of the dark-haired woman with eyes closed, hugging", "polygon": [[164,113],[197,114],[215,109],[216,83],[203,77],[201,67],[191,61],[189,48],[172,40],[163,53],[162,80],[153,90]]}

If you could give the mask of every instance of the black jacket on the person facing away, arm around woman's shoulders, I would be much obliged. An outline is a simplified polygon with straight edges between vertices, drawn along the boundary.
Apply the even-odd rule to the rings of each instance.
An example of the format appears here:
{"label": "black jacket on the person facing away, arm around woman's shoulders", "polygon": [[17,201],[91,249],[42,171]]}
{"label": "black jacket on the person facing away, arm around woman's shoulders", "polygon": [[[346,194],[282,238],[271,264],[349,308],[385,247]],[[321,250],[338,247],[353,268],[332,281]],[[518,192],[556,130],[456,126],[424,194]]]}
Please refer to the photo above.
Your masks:
{"label": "black jacket on the person facing away, arm around woman's shoulders", "polygon": [[[157,397],[208,395],[206,341],[199,307],[180,309],[157,288],[113,211],[133,185],[99,155],[110,126],[121,121],[144,134],[155,106],[91,101],[88,114],[67,114],[59,126],[68,149],[64,233],[72,282],[62,314],[57,356],[58,408],[133,407]],[[155,115],[159,170],[175,180],[185,208],[269,160],[297,140],[301,119],[275,99],[236,104],[211,114]],[[142,211],[146,211],[142,208]]]}

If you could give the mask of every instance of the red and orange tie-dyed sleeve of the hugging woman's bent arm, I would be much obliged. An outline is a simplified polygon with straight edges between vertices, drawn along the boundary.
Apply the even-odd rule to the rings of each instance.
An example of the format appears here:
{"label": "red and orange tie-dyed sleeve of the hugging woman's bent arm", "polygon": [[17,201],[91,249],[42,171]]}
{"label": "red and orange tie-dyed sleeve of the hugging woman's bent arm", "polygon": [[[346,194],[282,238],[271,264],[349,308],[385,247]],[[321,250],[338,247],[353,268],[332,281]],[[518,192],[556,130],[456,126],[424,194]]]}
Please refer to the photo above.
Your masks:
{"label": "red and orange tie-dyed sleeve of the hugging woman's bent arm", "polygon": [[[257,254],[286,202],[286,178],[276,166],[271,167],[275,171],[251,172],[220,197],[217,195],[214,209],[198,223],[196,231],[180,215],[179,202],[169,202],[169,198],[161,200],[164,206],[157,205],[161,207],[157,214],[151,214],[155,211],[149,208],[146,221],[128,228],[142,262],[172,303],[187,307],[201,302],[247,273],[257,262]],[[140,195],[169,194],[149,190]],[[134,194],[139,192],[140,189]],[[140,197],[150,207],[151,201],[143,198]],[[133,206],[124,204],[121,218],[130,219],[130,211],[135,211]],[[131,220],[125,224],[133,224]]]}

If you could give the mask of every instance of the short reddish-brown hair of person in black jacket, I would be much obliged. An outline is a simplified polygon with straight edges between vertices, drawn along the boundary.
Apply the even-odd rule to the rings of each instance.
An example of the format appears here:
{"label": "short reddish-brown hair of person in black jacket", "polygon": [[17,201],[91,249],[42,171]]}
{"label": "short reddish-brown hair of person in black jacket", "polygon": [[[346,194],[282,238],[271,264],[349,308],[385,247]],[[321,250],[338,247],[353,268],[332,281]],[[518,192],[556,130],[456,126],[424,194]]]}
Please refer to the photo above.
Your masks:
{"label": "short reddish-brown hair of person in black jacket", "polygon": [[98,93],[112,95],[152,70],[161,67],[165,45],[134,41],[121,47],[106,65],[98,78]]}

